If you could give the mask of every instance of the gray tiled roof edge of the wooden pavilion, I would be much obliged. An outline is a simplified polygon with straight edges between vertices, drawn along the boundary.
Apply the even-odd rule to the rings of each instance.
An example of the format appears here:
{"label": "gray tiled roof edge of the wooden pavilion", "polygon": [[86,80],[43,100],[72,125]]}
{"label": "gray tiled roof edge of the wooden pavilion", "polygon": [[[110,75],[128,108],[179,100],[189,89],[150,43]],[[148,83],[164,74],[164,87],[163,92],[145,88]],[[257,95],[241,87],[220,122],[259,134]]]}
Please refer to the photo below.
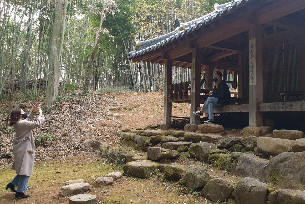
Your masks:
{"label": "gray tiled roof edge of the wooden pavilion", "polygon": [[208,13],[198,19],[186,23],[180,23],[180,27],[185,28],[184,30],[179,31],[179,27],[177,27],[174,31],[167,33],[165,35],[136,43],[136,44],[140,44],[140,48],[138,50],[129,52],[128,53],[129,59],[145,54],[147,52],[151,52],[157,48],[160,48],[174,41],[175,39],[178,39],[179,37],[182,37],[183,35],[192,32],[196,28],[200,28],[201,26],[204,26],[209,21],[213,21],[214,19],[217,19],[224,12],[229,12],[232,8],[237,7],[241,3],[247,1],[248,0],[234,0],[221,5],[215,4],[214,5],[215,10],[213,12]]}

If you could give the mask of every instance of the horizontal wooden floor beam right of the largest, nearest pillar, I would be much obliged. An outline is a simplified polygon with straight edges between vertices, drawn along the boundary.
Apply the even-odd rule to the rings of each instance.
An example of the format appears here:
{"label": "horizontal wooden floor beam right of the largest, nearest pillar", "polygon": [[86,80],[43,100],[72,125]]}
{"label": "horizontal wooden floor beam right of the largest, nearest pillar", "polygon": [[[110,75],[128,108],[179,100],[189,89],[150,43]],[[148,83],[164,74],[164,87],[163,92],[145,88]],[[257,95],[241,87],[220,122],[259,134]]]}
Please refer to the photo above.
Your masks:
{"label": "horizontal wooden floor beam right of the largest, nearest pillar", "polygon": [[260,103],[258,104],[258,111],[260,112],[305,111],[305,102],[292,101],[292,102]]}

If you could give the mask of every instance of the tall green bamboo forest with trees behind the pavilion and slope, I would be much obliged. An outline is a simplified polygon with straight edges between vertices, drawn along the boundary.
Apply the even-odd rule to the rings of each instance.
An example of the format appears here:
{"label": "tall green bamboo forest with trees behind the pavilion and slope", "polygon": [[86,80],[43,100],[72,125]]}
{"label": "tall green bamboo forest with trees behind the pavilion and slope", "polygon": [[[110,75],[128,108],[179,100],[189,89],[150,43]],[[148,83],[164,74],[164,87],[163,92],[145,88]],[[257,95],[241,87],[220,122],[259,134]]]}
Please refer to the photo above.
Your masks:
{"label": "tall green bamboo forest with trees behind the pavilion and slope", "polygon": [[[206,0],[8,0],[0,12],[0,98],[45,92],[47,108],[66,88],[163,91],[163,66],[132,63],[135,39],[151,39],[214,9]],[[219,2],[218,2],[219,3]],[[173,80],[188,77],[174,68]],[[185,79],[183,79],[186,81]],[[182,81],[183,81],[182,80]]]}

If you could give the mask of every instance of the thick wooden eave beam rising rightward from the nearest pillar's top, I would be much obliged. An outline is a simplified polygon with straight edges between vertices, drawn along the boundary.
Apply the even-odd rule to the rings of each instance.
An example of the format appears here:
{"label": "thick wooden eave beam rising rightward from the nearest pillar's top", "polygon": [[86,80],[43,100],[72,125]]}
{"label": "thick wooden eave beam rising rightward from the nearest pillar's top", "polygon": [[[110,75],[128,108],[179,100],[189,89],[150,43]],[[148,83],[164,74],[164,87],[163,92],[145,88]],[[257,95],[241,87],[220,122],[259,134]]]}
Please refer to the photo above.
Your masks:
{"label": "thick wooden eave beam rising rightward from the nearest pillar's top", "polygon": [[267,23],[305,8],[304,0],[278,0],[257,12],[258,23]]}

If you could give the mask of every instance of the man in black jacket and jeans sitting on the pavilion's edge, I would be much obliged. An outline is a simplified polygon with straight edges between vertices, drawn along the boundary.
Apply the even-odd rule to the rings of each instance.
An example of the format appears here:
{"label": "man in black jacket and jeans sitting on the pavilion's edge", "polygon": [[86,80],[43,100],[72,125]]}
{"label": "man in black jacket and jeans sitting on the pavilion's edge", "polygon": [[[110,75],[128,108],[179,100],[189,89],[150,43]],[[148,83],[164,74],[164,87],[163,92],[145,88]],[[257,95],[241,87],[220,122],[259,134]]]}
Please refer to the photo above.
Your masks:
{"label": "man in black jacket and jeans sitting on the pavilion's edge", "polygon": [[216,72],[213,81],[215,86],[213,88],[213,95],[209,93],[210,97],[206,99],[201,110],[194,111],[193,113],[197,116],[203,116],[203,112],[208,109],[209,120],[204,121],[205,123],[214,124],[214,108],[217,106],[230,105],[231,94],[228,85],[222,81],[222,73]]}

